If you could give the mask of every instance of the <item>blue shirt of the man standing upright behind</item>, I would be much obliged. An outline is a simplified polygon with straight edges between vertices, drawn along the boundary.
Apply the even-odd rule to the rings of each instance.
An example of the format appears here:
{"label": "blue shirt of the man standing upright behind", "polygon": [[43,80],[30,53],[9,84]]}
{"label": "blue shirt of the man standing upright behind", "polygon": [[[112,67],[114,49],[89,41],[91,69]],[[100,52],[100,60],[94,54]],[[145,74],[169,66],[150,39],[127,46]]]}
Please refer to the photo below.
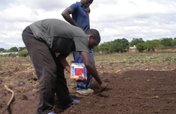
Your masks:
{"label": "blue shirt of the man standing upright behind", "polygon": [[83,8],[83,5],[80,2],[76,2],[70,6],[73,10],[72,18],[76,21],[79,27],[84,31],[90,29],[89,16],[86,10]]}

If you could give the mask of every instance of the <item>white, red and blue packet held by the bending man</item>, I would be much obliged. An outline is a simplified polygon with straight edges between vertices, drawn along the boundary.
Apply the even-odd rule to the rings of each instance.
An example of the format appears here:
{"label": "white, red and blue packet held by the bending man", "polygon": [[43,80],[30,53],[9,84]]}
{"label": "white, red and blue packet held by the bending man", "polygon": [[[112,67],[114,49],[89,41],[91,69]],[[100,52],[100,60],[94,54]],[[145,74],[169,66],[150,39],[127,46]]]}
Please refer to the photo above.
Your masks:
{"label": "white, red and blue packet held by the bending man", "polygon": [[70,70],[70,78],[79,79],[81,76],[87,80],[87,69],[83,61],[71,61]]}

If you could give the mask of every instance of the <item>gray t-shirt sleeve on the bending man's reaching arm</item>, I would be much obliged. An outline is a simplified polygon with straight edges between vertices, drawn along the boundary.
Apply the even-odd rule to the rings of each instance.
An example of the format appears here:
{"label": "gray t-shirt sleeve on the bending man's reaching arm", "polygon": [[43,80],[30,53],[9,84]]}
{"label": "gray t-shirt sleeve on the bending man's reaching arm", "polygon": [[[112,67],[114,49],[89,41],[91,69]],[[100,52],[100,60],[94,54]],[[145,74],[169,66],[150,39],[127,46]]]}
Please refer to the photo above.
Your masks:
{"label": "gray t-shirt sleeve on the bending man's reaching arm", "polygon": [[83,37],[74,37],[73,41],[75,43],[75,51],[85,51],[89,52],[88,40]]}

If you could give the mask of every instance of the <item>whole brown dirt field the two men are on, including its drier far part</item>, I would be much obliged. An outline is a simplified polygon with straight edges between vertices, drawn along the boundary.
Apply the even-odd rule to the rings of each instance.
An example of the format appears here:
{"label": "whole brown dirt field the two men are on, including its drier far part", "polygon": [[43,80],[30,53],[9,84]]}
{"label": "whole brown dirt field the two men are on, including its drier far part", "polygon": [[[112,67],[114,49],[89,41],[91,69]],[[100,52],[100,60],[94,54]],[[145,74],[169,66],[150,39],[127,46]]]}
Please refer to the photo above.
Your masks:
{"label": "whole brown dirt field the two men are on, including its drier far part", "polygon": [[[111,56],[119,59],[123,55]],[[154,59],[156,55],[150,56]],[[39,91],[30,59],[0,59],[0,114],[35,114]],[[165,57],[163,62],[172,61],[165,65],[157,62],[129,66],[141,63],[141,60],[127,61],[127,65],[124,61],[100,63],[102,60],[96,59],[100,76],[108,84],[106,91],[98,93],[97,84],[93,81],[93,94],[78,95],[75,81],[66,73],[71,95],[80,102],[62,111],[56,99],[53,111],[61,114],[176,114],[176,61],[173,60],[176,57]],[[9,110],[6,108],[12,94],[4,85],[15,93]]]}

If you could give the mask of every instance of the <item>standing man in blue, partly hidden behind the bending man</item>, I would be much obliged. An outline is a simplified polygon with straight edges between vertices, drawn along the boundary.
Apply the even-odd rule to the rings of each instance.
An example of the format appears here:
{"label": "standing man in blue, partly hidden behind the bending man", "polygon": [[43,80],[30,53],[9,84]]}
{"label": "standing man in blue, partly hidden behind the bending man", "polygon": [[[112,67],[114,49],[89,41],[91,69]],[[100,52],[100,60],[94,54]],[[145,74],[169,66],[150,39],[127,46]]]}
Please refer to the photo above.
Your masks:
{"label": "standing man in blue, partly hidden behind the bending man", "polygon": [[[70,7],[66,8],[62,12],[62,16],[64,19],[70,24],[82,28],[84,31],[90,29],[89,22],[89,6],[92,4],[93,0],[81,0],[80,2],[76,2],[72,4]],[[70,16],[72,15],[72,17]],[[89,50],[89,55],[94,63],[94,54],[93,50]],[[73,52],[73,57],[75,61],[82,61],[82,57],[78,52]],[[89,89],[90,84],[92,82],[92,76],[88,74],[88,79],[82,82],[77,82],[77,90],[79,93],[91,93],[92,89]]]}

